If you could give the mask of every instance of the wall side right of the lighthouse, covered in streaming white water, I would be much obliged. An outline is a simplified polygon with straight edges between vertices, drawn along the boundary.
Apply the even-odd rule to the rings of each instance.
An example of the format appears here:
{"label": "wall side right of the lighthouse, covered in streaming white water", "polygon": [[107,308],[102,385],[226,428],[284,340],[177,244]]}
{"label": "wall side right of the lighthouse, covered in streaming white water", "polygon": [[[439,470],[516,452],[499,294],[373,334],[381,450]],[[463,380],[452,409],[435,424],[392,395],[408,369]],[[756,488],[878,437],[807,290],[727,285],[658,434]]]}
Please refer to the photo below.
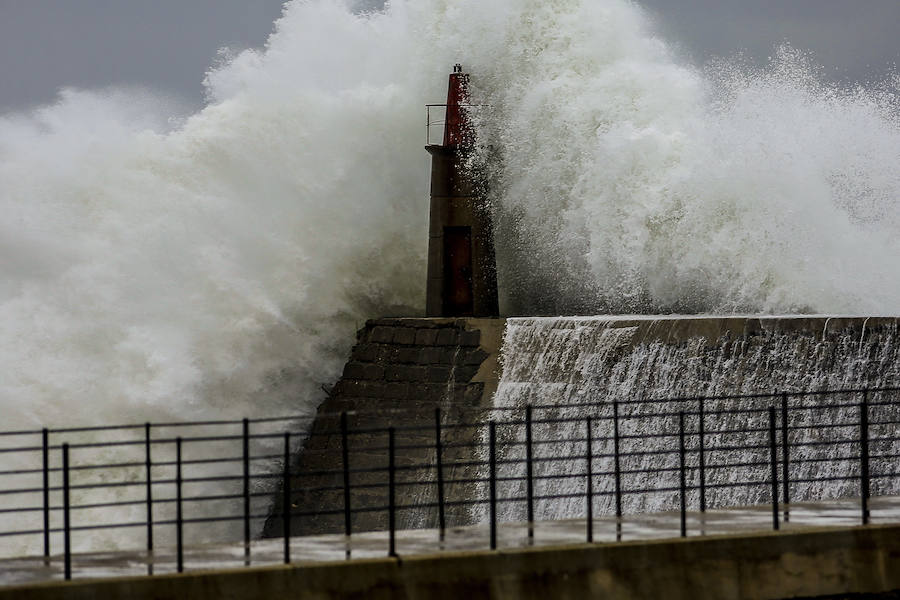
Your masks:
{"label": "wall side right of the lighthouse, covered in streaming white water", "polygon": [[[829,328],[830,327],[830,328]],[[728,319],[687,317],[594,317],[594,318],[520,318],[509,319],[503,344],[503,375],[494,407],[498,420],[511,416],[522,417],[523,411],[510,411],[532,405],[556,405],[557,410],[538,411],[535,419],[562,420],[535,425],[535,440],[577,440],[537,446],[536,457],[553,458],[585,453],[585,421],[588,416],[608,417],[614,401],[620,406],[621,452],[646,453],[631,457],[628,469],[671,469],[666,472],[636,473],[625,477],[624,488],[666,487],[678,485],[677,454],[666,456],[655,451],[677,450],[678,418],[632,419],[636,415],[652,413],[693,412],[689,417],[691,431],[696,432],[699,405],[688,402],[644,403],[646,400],[769,394],[775,392],[812,392],[822,390],[892,387],[900,384],[900,338],[894,319],[829,319],[809,317],[769,317]],[[858,474],[855,460],[840,457],[858,455],[854,444],[822,444],[799,447],[807,442],[835,442],[856,439],[859,394],[790,397],[790,441],[797,445],[791,460],[794,480],[846,477]],[[636,402],[637,401],[637,402]],[[597,404],[600,406],[596,406]],[[832,408],[837,404],[851,404]],[[760,444],[757,450],[740,456],[728,456],[734,464],[759,462],[756,466],[729,469],[709,469],[707,503],[710,507],[737,506],[770,500],[767,461],[768,416],[766,413],[740,412],[768,406],[781,406],[781,399],[747,398],[742,400],[707,400],[706,436],[708,448],[734,444]],[[816,407],[816,408],[811,408]],[[894,409],[891,409],[894,410]],[[735,411],[718,414],[717,411]],[[895,437],[896,421],[900,415],[879,413],[880,420],[894,424],[873,425],[871,435]],[[779,410],[779,426],[780,426]],[[574,419],[574,421],[567,421]],[[875,419],[872,419],[873,422]],[[833,429],[803,429],[809,425],[838,425]],[[597,419],[593,436],[598,459],[596,472],[612,472],[613,454],[611,421]],[[715,433],[732,430],[737,434]],[[663,434],[668,434],[665,436]],[[638,436],[640,439],[627,439]],[[659,436],[659,437],[653,437]],[[501,447],[510,442],[504,457],[521,458],[524,431],[518,428],[500,440]],[[749,442],[748,442],[749,440]],[[696,447],[696,442],[695,442]],[[879,451],[896,455],[900,443],[887,442]],[[724,455],[724,453],[719,453]],[[821,460],[829,459],[829,460]],[[831,460],[834,459],[834,460]],[[710,464],[723,462],[710,452]],[[818,462],[816,462],[818,461]],[[696,466],[696,458],[693,458]],[[893,463],[883,466],[890,467]],[[624,468],[624,467],[623,467]],[[517,466],[508,475],[521,475]],[[538,462],[536,475],[584,473],[580,459]],[[696,470],[693,471],[696,474]],[[482,474],[484,475],[484,474]],[[740,481],[762,481],[755,487],[716,487]],[[696,484],[696,481],[694,481]],[[602,495],[609,492],[612,479],[598,482],[597,507],[614,512],[614,498]],[[896,481],[876,481],[876,493],[897,493]],[[524,497],[524,483],[513,485],[504,493]],[[538,502],[536,516],[542,519],[581,517],[585,501],[584,477],[544,482],[537,494],[572,494],[573,498]],[[835,481],[824,487],[812,482],[794,483],[793,500],[816,500],[858,496],[856,481]],[[697,506],[697,492],[690,502]],[[678,506],[677,492],[654,494],[626,494],[623,509],[643,512],[673,509]],[[502,506],[504,519],[523,520],[524,505],[519,502]],[[483,518],[479,511],[476,518]]]}

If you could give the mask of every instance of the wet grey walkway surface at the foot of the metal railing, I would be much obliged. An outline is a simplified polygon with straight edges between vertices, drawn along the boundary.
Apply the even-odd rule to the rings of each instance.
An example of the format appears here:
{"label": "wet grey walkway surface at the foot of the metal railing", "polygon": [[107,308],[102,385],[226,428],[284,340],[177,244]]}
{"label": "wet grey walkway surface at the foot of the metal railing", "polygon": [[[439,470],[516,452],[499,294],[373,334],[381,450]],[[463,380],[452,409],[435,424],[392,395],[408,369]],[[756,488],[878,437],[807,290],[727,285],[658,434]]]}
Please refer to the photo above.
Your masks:
{"label": "wet grey walkway surface at the foot of the metal railing", "polygon": [[[779,513],[781,529],[803,527],[853,526],[861,524],[859,499],[844,499],[822,503],[798,503],[789,507],[789,520],[784,520],[784,506]],[[900,496],[872,498],[871,523],[900,522]],[[744,508],[709,510],[687,514],[687,534],[735,534],[772,529],[772,507],[761,505]],[[497,528],[497,546],[520,548],[530,544],[527,523],[501,523]],[[578,544],[587,540],[584,519],[546,521],[534,524],[533,545]],[[665,539],[681,534],[680,513],[645,513],[626,515],[621,523],[615,517],[594,519],[595,543]],[[354,534],[349,543],[343,535],[296,537],[290,540],[291,561],[294,563],[323,562],[355,558],[381,558],[388,554],[387,532]],[[447,529],[440,540],[435,529],[416,529],[396,533],[396,551],[400,556],[433,554],[436,552],[485,550],[490,547],[487,524]],[[283,564],[284,540],[275,538],[254,541],[250,545],[249,564],[265,566]],[[240,568],[247,565],[243,544],[185,546],[184,570],[213,570]],[[73,579],[94,577],[122,577],[148,573],[173,573],[177,570],[175,548],[146,551],[114,551],[74,554]],[[14,585],[63,579],[63,557],[52,556],[49,563],[43,557],[8,558],[0,560],[0,585]]]}

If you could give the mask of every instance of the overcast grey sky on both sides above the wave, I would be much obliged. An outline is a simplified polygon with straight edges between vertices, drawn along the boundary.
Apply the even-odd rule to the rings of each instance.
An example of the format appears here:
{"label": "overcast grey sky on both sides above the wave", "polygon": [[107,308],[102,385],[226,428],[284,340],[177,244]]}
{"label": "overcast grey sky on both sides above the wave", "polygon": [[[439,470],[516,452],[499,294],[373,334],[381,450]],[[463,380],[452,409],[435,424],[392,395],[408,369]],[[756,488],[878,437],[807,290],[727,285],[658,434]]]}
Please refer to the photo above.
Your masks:
{"label": "overcast grey sky on both sides above the wave", "polygon": [[[379,0],[359,0],[376,3]],[[491,0],[485,0],[490,2]],[[139,84],[203,101],[222,46],[261,46],[283,0],[0,0],[0,110],[53,100],[64,86]],[[900,62],[900,0],[640,0],[694,62],[790,42],[840,81]]]}

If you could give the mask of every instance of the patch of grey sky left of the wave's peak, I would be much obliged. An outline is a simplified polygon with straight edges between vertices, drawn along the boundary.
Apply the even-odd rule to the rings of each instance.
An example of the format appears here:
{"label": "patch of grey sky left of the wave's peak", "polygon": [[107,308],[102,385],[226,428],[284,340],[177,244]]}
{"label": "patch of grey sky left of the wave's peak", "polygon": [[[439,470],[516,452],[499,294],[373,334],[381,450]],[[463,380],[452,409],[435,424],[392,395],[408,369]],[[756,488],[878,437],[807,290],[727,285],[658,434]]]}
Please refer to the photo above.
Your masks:
{"label": "patch of grey sky left of the wave's peak", "polygon": [[261,46],[284,0],[0,0],[0,110],[64,86],[139,84],[203,100],[222,46]]}

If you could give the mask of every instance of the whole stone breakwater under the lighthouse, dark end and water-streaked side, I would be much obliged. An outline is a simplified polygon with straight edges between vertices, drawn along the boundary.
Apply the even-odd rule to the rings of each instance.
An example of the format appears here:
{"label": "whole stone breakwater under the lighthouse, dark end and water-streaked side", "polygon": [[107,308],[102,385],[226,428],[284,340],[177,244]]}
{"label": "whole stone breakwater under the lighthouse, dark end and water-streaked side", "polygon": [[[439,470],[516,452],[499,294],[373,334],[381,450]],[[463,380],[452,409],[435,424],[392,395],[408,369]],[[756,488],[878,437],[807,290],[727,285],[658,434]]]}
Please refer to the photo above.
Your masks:
{"label": "whole stone breakwater under the lighthouse, dark end and water-streaked side", "polygon": [[[298,499],[295,504],[303,511],[321,510],[330,512],[323,518],[306,519],[312,531],[341,531],[344,524],[341,515],[343,503],[341,469],[343,467],[342,444],[340,439],[339,413],[349,411],[349,419],[355,419],[354,411],[365,415],[365,422],[354,421],[350,429],[371,431],[364,434],[365,443],[360,443],[360,452],[354,452],[354,436],[348,444],[347,461],[353,468],[373,466],[382,468],[387,464],[386,440],[374,439],[373,436],[384,435],[390,426],[412,426],[429,423],[433,419],[433,410],[444,408],[445,423],[452,423],[459,414],[466,413],[470,418],[486,422],[491,418],[502,419],[516,415],[516,411],[524,411],[529,404],[557,406],[557,418],[572,420],[583,419],[591,414],[600,416],[606,412],[596,410],[598,405],[606,406],[609,411],[616,402],[628,402],[623,408],[622,435],[631,451],[638,451],[637,444],[645,444],[647,436],[654,433],[659,437],[671,436],[673,419],[657,420],[652,427],[658,431],[647,431],[647,421],[641,421],[642,414],[652,410],[665,410],[677,414],[678,410],[696,413],[696,402],[673,401],[669,404],[658,402],[644,406],[643,401],[661,401],[685,397],[704,396],[711,398],[704,409],[709,419],[713,419],[717,411],[737,409],[728,418],[709,421],[711,447],[729,444],[735,436],[759,435],[765,431],[765,412],[760,411],[760,401],[752,398],[743,404],[734,406],[733,400],[717,400],[719,396],[753,395],[822,391],[828,389],[862,389],[866,387],[891,387],[900,383],[900,346],[897,340],[897,319],[891,317],[590,317],[590,318],[517,318],[506,320],[428,320],[404,319],[400,321],[372,321],[361,330],[359,344],[354,349],[352,360],[348,363],[344,377],[338,382],[336,393],[320,408],[317,419],[321,431],[328,430],[330,436],[310,437],[314,445],[307,444],[307,449],[300,452],[298,461],[298,478],[308,482],[312,474],[321,477],[322,471],[329,471],[327,479],[319,481],[328,483],[333,490],[327,495],[315,498]],[[427,345],[415,343],[417,328],[454,328],[456,333],[445,333],[444,346],[437,351],[429,350]],[[489,329],[479,329],[489,328]],[[503,331],[502,338],[499,332]],[[460,332],[468,331],[465,336]],[[482,331],[476,338],[476,331]],[[485,336],[484,331],[490,335]],[[412,337],[410,334],[412,332]],[[470,337],[471,336],[471,337]],[[430,339],[430,338],[429,338]],[[461,340],[479,340],[479,346],[465,346]],[[483,339],[492,340],[490,343]],[[438,340],[435,335],[435,342]],[[485,347],[485,343],[487,347]],[[468,348],[468,349],[467,349]],[[468,353],[468,354],[467,354]],[[466,370],[445,369],[441,375],[448,379],[443,382],[423,383],[418,380],[423,373],[437,375],[438,371],[422,369],[421,361],[427,357],[445,357],[450,360],[456,356],[479,356],[483,359],[480,365],[470,365]],[[499,356],[499,361],[494,362]],[[369,360],[359,364],[360,357]],[[423,358],[425,357],[425,358]],[[463,361],[465,362],[465,361]],[[473,360],[474,362],[474,360]],[[418,365],[410,368],[413,365]],[[477,369],[475,368],[477,366]],[[403,369],[406,370],[403,370]],[[358,379],[370,369],[373,374],[395,373],[397,381],[387,383],[375,379],[365,383]],[[453,373],[453,378],[449,377]],[[472,377],[472,381],[466,381]],[[458,379],[460,378],[460,379]],[[480,378],[482,381],[474,381]],[[487,385],[485,383],[487,382]],[[470,386],[476,386],[474,388]],[[496,385],[496,391],[491,388]],[[433,394],[427,392],[428,386]],[[440,391],[439,391],[440,388]],[[395,397],[375,397],[353,395],[347,390],[388,390],[402,389]],[[426,393],[419,394],[417,390]],[[448,390],[457,390],[449,393]],[[469,390],[466,392],[466,390]],[[468,393],[468,400],[466,400]],[[799,396],[798,396],[799,397]],[[793,443],[803,446],[793,459],[799,467],[795,467],[798,480],[821,479],[822,477],[844,478],[828,488],[826,496],[841,497],[858,493],[858,485],[850,481],[853,469],[850,462],[834,463],[847,447],[838,443],[838,438],[848,429],[836,428],[822,431],[818,425],[844,424],[854,427],[858,414],[854,412],[857,399],[837,397],[818,397],[814,402],[792,400],[790,405],[790,436]],[[763,399],[763,403],[771,402],[771,398]],[[848,404],[849,402],[849,404]],[[596,411],[592,413],[591,411]],[[675,412],[672,412],[675,411]],[[696,416],[692,427],[696,427]],[[891,431],[891,415],[885,417],[887,423],[879,426],[876,434],[888,434]],[[715,423],[713,427],[712,424]],[[566,439],[577,437],[572,428],[575,425],[547,424],[541,426],[539,435],[543,438]],[[401,427],[402,428],[402,427]],[[720,433],[716,432],[716,428]],[[428,430],[426,430],[428,431]],[[448,431],[453,431],[448,429]],[[380,433],[376,433],[380,432]],[[448,445],[454,448],[453,459],[471,463],[485,463],[487,440],[484,429],[480,432],[469,432],[462,437],[448,439]],[[455,435],[460,435],[456,433]],[[502,441],[510,445],[518,442],[521,452],[521,433],[512,433]],[[518,437],[517,437],[518,436]],[[729,438],[729,436],[731,436]],[[830,437],[829,437],[830,436]],[[826,442],[817,445],[819,439]],[[831,442],[829,442],[831,439]],[[669,439],[666,443],[671,442]],[[434,461],[433,449],[426,449],[433,443],[433,434],[418,433],[418,437],[410,437],[403,446],[420,446],[415,450],[400,450],[397,460],[401,464],[421,465]],[[597,446],[596,451],[609,456],[608,441],[606,445]],[[652,444],[652,442],[649,442]],[[660,442],[662,443],[662,442]],[[897,442],[890,436],[881,450],[890,455],[896,453]],[[372,452],[371,447],[383,450]],[[555,447],[559,447],[557,444]],[[645,448],[646,449],[646,448]],[[652,448],[650,448],[652,450]],[[571,454],[575,448],[557,450],[561,454]],[[508,454],[505,458],[513,460],[517,455]],[[544,456],[544,466],[539,475],[552,473],[565,474],[567,470],[580,468],[574,463],[569,465],[554,463],[553,456]],[[606,459],[605,459],[606,460]],[[672,458],[666,460],[673,460]],[[710,483],[720,487],[710,493],[710,506],[752,504],[763,500],[768,492],[765,487],[747,491],[746,489],[728,487],[731,479],[748,479],[758,477],[762,466],[759,457],[747,455],[743,464],[739,461],[733,469],[720,469],[711,475]],[[837,464],[837,466],[835,466]],[[653,468],[673,468],[674,465],[662,464],[660,459],[651,454],[635,466],[637,471]],[[601,464],[599,468],[605,468]],[[828,471],[831,469],[831,471]],[[448,502],[465,502],[475,494],[484,495],[485,467],[468,465],[464,471],[456,473],[456,479],[468,482],[448,490]],[[306,474],[304,474],[306,472]],[[383,484],[378,481],[364,481],[365,476],[354,475],[363,486],[366,484]],[[383,475],[382,475],[383,477]],[[640,486],[653,477],[648,472],[637,473],[629,484]],[[452,478],[452,477],[451,477]],[[557,484],[550,484],[547,493],[553,495],[575,495],[566,489],[566,479],[561,478]],[[571,481],[569,479],[568,481]],[[352,484],[352,482],[351,482]],[[521,484],[518,484],[521,485]],[[554,487],[555,485],[555,487]],[[580,484],[575,484],[580,485]],[[875,493],[887,493],[888,487],[877,488]],[[406,493],[400,491],[399,502],[404,505],[415,505],[433,502],[429,493],[422,493],[423,486],[410,486]],[[808,491],[802,483],[792,487],[796,499],[804,498]],[[511,493],[515,493],[513,489]],[[817,491],[816,494],[821,494]],[[384,506],[386,490],[361,491],[354,494],[352,502],[355,508]],[[601,512],[613,510],[611,500],[599,507]],[[656,497],[647,495],[634,496],[625,500],[627,511],[663,510],[673,507],[673,496],[661,494]],[[469,505],[459,508],[451,515],[451,523],[469,524],[485,519],[484,505]],[[503,509],[503,518],[507,520],[524,520],[523,507],[509,505]],[[566,516],[578,516],[583,510],[581,499],[572,501],[548,501],[539,503],[536,518],[555,519]],[[276,505],[276,513],[279,512]],[[327,517],[327,518],[325,518]],[[357,516],[352,523],[353,530],[383,528],[385,515],[371,517]],[[267,531],[277,531],[277,517],[270,520]],[[309,524],[312,525],[309,525]],[[405,522],[404,526],[433,526],[433,521],[424,520]]]}

